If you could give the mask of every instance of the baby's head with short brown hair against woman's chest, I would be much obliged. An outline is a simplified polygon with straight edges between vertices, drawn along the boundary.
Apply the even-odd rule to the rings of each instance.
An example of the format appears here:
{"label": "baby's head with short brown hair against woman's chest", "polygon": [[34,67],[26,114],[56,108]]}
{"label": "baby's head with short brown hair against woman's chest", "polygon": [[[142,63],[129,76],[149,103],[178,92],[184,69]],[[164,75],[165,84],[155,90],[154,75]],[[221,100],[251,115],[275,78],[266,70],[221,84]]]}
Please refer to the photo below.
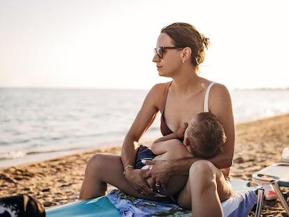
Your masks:
{"label": "baby's head with short brown hair against woman's chest", "polygon": [[212,158],[218,151],[223,151],[223,144],[227,140],[222,124],[210,112],[195,115],[188,123],[184,137],[191,154],[200,158]]}

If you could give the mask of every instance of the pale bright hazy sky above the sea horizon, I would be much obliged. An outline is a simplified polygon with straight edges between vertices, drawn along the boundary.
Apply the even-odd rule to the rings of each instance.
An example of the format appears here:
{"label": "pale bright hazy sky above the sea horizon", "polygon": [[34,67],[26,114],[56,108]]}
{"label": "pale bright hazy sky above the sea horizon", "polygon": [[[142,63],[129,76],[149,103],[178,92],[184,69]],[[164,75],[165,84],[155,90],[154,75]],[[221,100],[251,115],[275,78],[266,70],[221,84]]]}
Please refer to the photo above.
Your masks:
{"label": "pale bright hazy sky above the sea horizon", "polygon": [[288,88],[287,0],[0,0],[0,87],[150,89],[161,28],[210,39],[200,76]]}

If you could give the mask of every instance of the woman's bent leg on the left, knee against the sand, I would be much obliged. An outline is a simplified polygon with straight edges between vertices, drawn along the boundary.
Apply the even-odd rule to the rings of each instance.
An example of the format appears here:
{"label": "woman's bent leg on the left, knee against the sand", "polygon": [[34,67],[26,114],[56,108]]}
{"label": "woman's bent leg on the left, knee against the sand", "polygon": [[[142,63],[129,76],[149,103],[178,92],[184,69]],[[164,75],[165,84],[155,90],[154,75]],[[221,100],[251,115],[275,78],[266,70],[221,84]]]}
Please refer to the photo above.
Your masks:
{"label": "woman's bent leg on the left, knee against the sand", "polygon": [[124,167],[120,156],[112,154],[96,154],[89,159],[85,169],[80,199],[100,197],[106,194],[107,184],[140,198],[153,198],[141,195],[124,177]]}

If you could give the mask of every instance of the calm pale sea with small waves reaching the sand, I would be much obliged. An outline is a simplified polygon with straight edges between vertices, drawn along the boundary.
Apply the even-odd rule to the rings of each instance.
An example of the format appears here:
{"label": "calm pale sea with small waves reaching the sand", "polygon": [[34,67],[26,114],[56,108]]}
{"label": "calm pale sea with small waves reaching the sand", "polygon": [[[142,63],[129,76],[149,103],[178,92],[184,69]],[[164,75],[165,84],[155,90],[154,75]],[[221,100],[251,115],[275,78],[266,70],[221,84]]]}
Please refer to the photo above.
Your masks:
{"label": "calm pale sea with small waves reaching the sand", "polygon": [[[149,90],[0,89],[0,167],[121,146]],[[289,113],[289,89],[230,91],[236,124]],[[160,117],[142,140],[160,137]]]}

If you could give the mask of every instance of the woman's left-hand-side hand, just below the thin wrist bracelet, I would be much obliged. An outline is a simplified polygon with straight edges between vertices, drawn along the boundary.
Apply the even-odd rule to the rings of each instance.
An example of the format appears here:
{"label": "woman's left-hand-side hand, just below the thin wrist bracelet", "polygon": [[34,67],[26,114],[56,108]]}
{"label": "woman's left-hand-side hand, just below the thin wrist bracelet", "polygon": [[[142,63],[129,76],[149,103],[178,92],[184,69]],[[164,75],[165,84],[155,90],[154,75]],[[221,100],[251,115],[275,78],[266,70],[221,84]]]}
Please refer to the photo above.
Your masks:
{"label": "woman's left-hand-side hand, just below the thin wrist bracelet", "polygon": [[128,170],[126,170],[125,177],[131,183],[133,188],[138,191],[138,193],[142,195],[154,196],[156,192],[154,192],[154,190],[151,190],[144,178],[147,171],[148,170],[129,168]]}

